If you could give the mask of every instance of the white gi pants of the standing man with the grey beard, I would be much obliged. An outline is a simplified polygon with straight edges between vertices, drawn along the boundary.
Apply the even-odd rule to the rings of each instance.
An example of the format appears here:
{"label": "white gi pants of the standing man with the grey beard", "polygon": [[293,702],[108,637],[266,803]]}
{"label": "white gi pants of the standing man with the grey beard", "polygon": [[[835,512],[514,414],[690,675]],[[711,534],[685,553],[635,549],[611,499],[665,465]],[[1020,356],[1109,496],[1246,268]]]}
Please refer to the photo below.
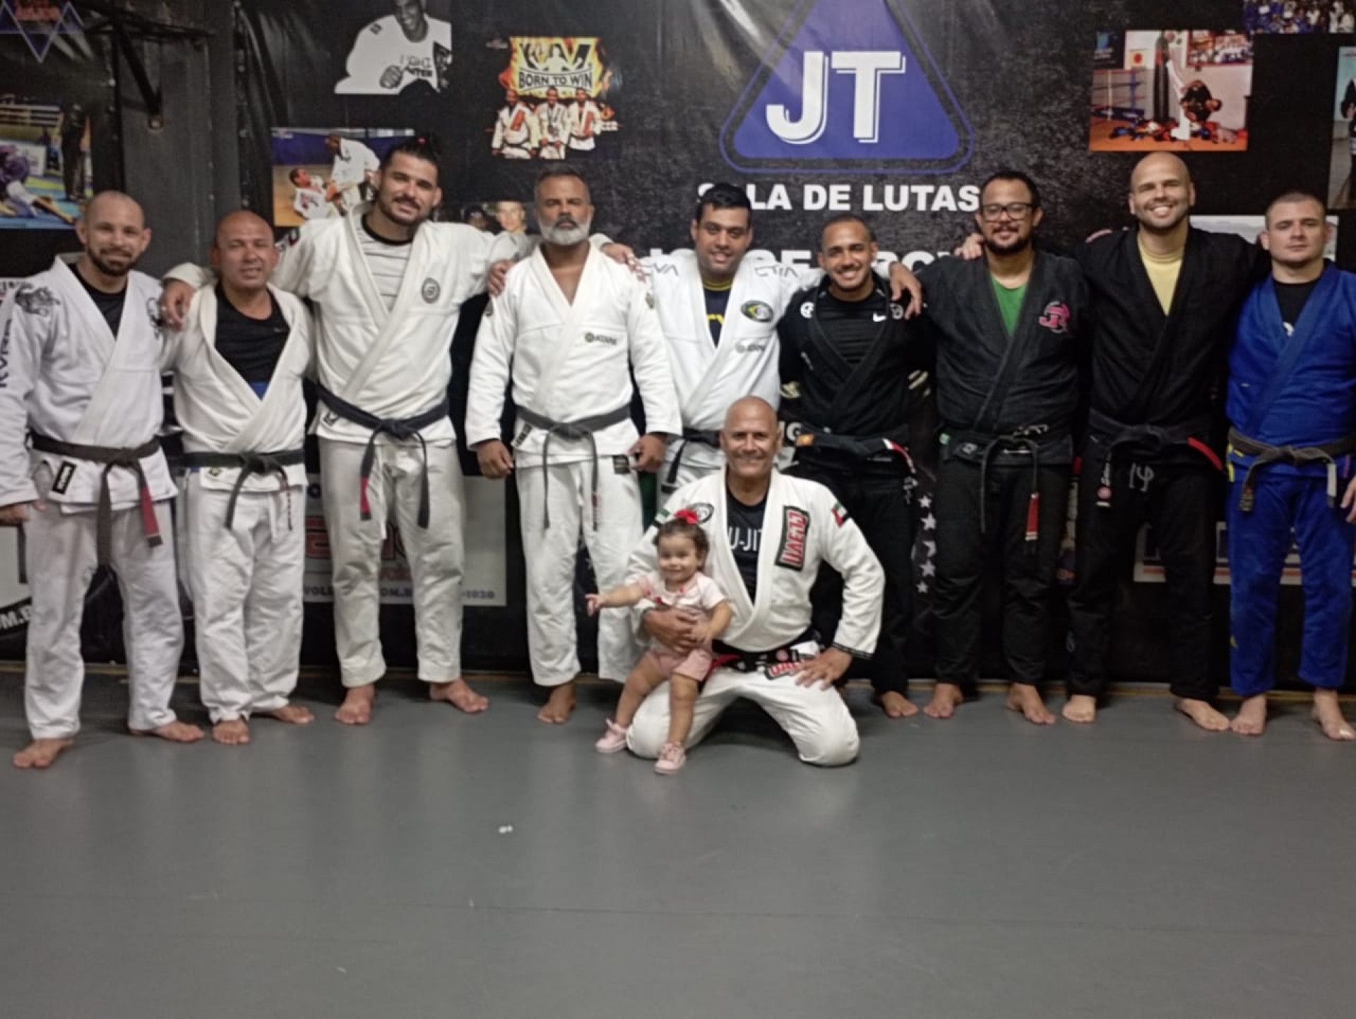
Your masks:
{"label": "white gi pants of the standing man with the grey beard", "polygon": [[[626,560],[644,533],[636,476],[629,470],[618,474],[612,457],[598,457],[599,505],[594,507],[593,469],[593,462],[579,461],[514,470],[527,566],[527,652],[532,678],[544,687],[557,687],[579,675],[575,631],[579,535],[583,534],[589,549],[598,589],[607,591],[625,583]],[[551,527],[544,520],[548,497]],[[598,614],[599,676],[624,682],[640,650],[628,612]]]}

